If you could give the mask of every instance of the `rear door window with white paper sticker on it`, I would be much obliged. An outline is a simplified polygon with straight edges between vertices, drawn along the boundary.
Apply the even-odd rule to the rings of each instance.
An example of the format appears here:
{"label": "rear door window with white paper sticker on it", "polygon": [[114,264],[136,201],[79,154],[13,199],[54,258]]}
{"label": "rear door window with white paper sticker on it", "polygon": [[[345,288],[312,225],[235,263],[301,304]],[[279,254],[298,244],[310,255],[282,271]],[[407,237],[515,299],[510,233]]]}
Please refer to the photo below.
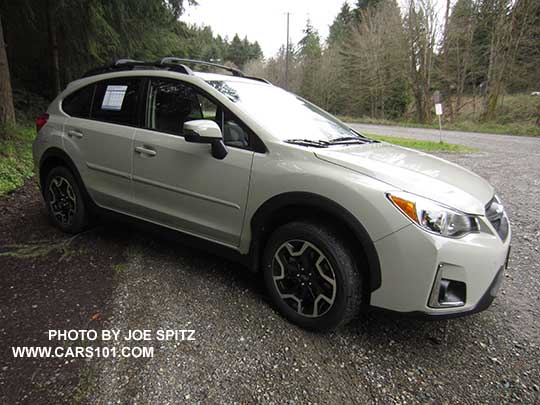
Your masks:
{"label": "rear door window with white paper sticker on it", "polygon": [[106,80],[96,84],[91,118],[114,124],[137,125],[140,79]]}

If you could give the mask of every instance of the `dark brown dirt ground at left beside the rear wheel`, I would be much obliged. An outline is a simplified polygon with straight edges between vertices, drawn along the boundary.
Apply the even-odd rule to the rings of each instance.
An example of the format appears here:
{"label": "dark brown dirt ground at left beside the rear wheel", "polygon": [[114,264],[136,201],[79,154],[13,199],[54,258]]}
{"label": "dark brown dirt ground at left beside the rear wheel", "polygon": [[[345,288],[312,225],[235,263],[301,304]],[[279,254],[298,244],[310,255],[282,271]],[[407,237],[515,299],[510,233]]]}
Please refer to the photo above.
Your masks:
{"label": "dark brown dirt ground at left beside the rear wheel", "polygon": [[76,237],[57,231],[35,181],[0,197],[0,218],[0,400],[83,398],[84,360],[16,359],[11,347],[49,346],[49,329],[99,329],[129,234],[110,226]]}

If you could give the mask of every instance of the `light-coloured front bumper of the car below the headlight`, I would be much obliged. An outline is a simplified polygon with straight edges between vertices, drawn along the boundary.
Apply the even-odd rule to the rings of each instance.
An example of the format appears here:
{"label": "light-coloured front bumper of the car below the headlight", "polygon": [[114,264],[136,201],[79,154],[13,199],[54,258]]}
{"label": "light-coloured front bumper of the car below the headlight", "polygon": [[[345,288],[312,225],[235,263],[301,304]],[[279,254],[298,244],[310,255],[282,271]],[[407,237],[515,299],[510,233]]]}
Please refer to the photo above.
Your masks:
{"label": "light-coloured front bumper of the car below the headlight", "polygon": [[[371,295],[371,306],[422,318],[483,311],[504,277],[510,240],[510,231],[501,240],[487,221],[483,232],[459,239],[429,234],[411,224],[375,243],[382,283]],[[462,305],[434,307],[433,290],[441,272],[444,279],[465,284]]]}

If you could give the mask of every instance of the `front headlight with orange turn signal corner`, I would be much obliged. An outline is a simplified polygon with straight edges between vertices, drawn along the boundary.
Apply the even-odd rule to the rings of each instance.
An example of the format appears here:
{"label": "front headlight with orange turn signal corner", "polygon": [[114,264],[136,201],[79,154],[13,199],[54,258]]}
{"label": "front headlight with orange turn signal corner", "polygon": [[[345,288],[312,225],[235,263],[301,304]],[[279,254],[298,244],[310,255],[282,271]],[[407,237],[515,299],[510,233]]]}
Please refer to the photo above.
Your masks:
{"label": "front headlight with orange turn signal corner", "polygon": [[457,238],[467,233],[480,231],[480,224],[475,216],[414,194],[392,192],[387,196],[407,218],[428,232]]}

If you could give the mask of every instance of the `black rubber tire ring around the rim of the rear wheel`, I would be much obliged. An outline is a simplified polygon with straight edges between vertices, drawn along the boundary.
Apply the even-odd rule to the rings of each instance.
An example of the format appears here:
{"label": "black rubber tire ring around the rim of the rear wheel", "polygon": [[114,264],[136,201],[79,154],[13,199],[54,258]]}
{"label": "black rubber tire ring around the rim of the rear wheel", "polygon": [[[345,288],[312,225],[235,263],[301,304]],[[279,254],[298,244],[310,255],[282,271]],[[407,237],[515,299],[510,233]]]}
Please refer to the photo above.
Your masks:
{"label": "black rubber tire ring around the rim of the rear wheel", "polygon": [[[75,215],[73,216],[73,220],[71,224],[63,224],[59,222],[51,211],[51,206],[49,204],[49,201],[50,201],[49,185],[52,179],[56,176],[61,176],[65,178],[69,182],[75,194],[75,198],[76,198]],[[50,220],[56,227],[60,228],[62,231],[68,232],[68,233],[78,233],[78,232],[81,232],[86,227],[88,223],[88,218],[87,218],[87,210],[86,210],[84,197],[82,195],[81,187],[79,186],[79,183],[77,182],[77,180],[75,179],[75,176],[73,176],[73,174],[71,173],[69,169],[63,166],[60,166],[60,167],[55,167],[49,172],[49,174],[47,175],[47,179],[45,181],[45,203],[47,205],[47,212],[49,213]]]}

